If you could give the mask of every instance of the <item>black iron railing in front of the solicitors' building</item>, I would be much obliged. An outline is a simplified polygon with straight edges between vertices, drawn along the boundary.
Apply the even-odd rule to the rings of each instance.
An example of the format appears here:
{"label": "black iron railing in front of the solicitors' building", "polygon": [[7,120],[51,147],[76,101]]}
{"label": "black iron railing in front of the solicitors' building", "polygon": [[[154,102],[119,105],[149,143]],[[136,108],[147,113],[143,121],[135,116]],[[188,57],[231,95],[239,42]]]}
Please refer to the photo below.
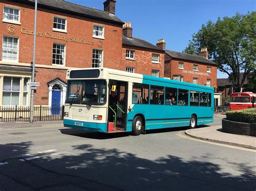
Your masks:
{"label": "black iron railing in front of the solicitors' building", "polygon": [[[35,106],[33,107],[33,121],[59,121],[63,119],[63,107]],[[30,107],[2,106],[0,107],[1,122],[29,122]]]}

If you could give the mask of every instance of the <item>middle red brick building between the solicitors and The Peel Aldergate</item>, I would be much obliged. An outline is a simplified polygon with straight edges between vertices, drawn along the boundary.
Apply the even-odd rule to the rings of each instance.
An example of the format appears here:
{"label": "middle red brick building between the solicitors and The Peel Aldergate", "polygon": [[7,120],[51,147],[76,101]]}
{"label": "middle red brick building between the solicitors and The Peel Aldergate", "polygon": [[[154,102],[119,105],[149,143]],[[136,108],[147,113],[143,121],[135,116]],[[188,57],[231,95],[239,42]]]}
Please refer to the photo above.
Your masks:
{"label": "middle red brick building between the solicitors and The Peel Aldergate", "polygon": [[124,24],[122,70],[164,77],[164,53],[163,49],[133,37],[131,23]]}

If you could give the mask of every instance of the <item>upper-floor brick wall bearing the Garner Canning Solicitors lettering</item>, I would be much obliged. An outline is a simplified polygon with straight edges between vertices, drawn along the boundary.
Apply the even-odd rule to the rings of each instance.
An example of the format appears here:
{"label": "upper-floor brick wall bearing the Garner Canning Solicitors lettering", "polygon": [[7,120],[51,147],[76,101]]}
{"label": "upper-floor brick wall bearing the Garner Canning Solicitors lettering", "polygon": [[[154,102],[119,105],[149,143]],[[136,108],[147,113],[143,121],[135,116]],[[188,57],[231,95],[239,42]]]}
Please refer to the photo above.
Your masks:
{"label": "upper-floor brick wall bearing the Garner Canning Solicitors lettering", "polygon": [[[32,61],[33,35],[23,34],[31,33],[34,29],[34,8],[32,6],[17,4],[9,1],[0,2],[0,18],[3,18],[3,6],[14,6],[21,9],[21,25],[1,22],[0,33],[6,36],[19,37],[19,62],[30,63]],[[64,17],[67,19],[67,33],[55,32],[53,28],[53,16]],[[104,50],[104,67],[120,69],[122,55],[122,26],[110,25],[96,20],[85,19],[72,16],[65,13],[57,13],[46,9],[38,8],[37,12],[37,48],[36,63],[43,65],[52,65],[52,44],[60,43],[66,45],[66,64],[67,67],[92,67],[92,49]],[[93,24],[104,26],[105,40],[92,38]],[[10,34],[6,30],[9,25],[14,25],[17,32]],[[21,32],[23,29],[23,33]],[[48,32],[47,34],[45,34]],[[69,38],[65,40],[46,38],[45,35],[58,35]],[[93,45],[84,43],[75,43],[73,39],[85,39],[93,42]],[[2,45],[2,38],[0,38]],[[91,43],[92,44],[92,43]],[[99,46],[98,46],[99,45]],[[102,45],[102,47],[101,47]],[[0,51],[0,58],[2,58]]]}

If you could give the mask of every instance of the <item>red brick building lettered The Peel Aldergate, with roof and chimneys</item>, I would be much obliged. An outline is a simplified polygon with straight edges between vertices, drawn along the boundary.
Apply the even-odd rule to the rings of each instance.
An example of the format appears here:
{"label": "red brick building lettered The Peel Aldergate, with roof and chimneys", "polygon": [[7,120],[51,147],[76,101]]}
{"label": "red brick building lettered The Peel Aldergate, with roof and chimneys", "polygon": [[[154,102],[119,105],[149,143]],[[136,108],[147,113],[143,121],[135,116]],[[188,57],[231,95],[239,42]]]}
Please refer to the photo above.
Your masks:
{"label": "red brick building lettered The Peel Aldergate, with roof and chimneys", "polygon": [[[164,41],[158,46],[165,47]],[[201,49],[201,55],[166,50],[164,76],[172,80],[217,88],[217,63],[208,60],[207,48]]]}

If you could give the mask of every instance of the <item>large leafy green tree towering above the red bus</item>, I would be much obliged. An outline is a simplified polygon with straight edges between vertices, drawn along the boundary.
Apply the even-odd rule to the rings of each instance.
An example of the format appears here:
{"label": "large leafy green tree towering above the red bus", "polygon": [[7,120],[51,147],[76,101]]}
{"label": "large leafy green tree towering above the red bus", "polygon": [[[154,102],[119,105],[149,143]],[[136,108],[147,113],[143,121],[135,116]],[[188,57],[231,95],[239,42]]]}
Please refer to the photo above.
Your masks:
{"label": "large leafy green tree towering above the red bus", "polygon": [[228,75],[234,90],[239,91],[246,76],[256,68],[256,12],[218,18],[216,23],[209,20],[192,35],[183,52],[199,54],[204,47],[209,59],[218,63],[218,69]]}

